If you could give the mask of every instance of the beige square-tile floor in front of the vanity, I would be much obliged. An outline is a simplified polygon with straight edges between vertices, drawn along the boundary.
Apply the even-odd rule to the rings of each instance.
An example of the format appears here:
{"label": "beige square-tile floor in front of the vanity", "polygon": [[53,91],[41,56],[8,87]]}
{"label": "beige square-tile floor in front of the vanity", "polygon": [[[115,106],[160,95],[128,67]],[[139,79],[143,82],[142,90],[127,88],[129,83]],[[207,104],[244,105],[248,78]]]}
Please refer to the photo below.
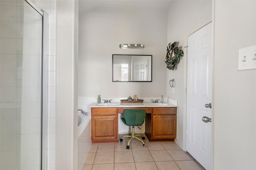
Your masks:
{"label": "beige square-tile floor in front of the vanity", "polygon": [[82,170],[204,170],[176,143],[150,143],[145,138],[144,147],[132,139],[129,150],[128,137],[119,143],[92,144]]}

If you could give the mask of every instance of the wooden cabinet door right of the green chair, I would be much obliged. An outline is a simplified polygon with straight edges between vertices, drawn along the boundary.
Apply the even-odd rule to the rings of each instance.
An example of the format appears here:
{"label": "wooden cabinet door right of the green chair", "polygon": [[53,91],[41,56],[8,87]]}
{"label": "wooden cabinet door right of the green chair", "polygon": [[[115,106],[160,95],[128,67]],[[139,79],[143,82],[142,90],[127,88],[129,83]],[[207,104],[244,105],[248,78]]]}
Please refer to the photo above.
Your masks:
{"label": "wooden cabinet door right of the green chair", "polygon": [[153,115],[152,139],[176,138],[176,115]]}

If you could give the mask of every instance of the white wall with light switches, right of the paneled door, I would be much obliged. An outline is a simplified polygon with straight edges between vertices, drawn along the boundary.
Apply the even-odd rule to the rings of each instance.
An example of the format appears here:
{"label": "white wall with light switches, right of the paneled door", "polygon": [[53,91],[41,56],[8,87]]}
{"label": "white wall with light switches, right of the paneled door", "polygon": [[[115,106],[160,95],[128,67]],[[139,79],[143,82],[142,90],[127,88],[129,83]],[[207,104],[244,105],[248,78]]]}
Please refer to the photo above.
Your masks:
{"label": "white wall with light switches, right of the paneled door", "polygon": [[256,1],[215,1],[215,170],[256,167],[256,70],[238,71],[238,49],[256,45]]}

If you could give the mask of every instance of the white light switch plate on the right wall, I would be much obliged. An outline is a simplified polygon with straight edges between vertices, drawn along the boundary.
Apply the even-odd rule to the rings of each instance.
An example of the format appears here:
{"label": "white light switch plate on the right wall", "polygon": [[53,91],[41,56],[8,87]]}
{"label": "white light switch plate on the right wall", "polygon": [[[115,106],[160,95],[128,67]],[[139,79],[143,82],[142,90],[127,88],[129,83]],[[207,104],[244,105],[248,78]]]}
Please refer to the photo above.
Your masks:
{"label": "white light switch plate on the right wall", "polygon": [[238,50],[238,70],[256,69],[256,45]]}

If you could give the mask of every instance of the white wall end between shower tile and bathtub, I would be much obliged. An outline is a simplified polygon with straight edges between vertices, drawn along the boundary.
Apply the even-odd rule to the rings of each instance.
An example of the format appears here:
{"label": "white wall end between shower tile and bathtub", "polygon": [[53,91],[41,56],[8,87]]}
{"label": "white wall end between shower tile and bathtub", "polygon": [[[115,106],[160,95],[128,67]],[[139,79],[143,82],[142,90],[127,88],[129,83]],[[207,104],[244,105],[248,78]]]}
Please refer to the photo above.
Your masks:
{"label": "white wall end between shower tile and bathtub", "polygon": [[57,1],[56,170],[77,169],[76,9],[74,0]]}

